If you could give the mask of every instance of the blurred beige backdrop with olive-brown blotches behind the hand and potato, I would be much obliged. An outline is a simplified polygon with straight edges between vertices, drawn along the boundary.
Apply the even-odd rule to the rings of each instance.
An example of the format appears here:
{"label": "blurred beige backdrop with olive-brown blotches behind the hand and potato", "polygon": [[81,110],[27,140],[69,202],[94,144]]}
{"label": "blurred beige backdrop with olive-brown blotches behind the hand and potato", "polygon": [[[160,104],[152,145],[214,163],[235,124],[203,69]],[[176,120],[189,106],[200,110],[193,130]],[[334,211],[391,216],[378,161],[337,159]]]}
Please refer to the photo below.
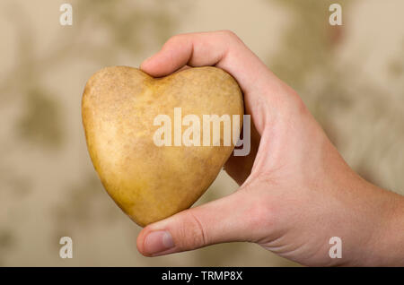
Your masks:
{"label": "blurred beige backdrop with olive-brown blotches behind the hand and potato", "polygon": [[[73,26],[59,6],[73,5]],[[329,26],[329,4],[343,26]],[[0,2],[0,265],[293,266],[251,244],[146,258],[87,154],[83,86],[137,66],[171,35],[233,30],[299,91],[347,162],[404,194],[404,2],[197,0]],[[198,201],[237,188],[224,173]],[[74,258],[59,258],[59,238]]]}

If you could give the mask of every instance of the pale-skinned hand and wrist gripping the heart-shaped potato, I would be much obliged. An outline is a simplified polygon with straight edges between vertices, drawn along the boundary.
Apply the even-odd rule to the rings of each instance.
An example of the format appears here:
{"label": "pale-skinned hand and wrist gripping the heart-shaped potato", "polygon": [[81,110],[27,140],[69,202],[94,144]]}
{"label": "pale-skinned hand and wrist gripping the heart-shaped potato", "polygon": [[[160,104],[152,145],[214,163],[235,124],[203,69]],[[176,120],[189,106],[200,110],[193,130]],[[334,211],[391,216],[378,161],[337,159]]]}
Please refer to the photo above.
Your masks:
{"label": "pale-skinned hand and wrist gripping the heart-shaped potato", "polygon": [[[236,192],[145,227],[142,255],[245,241],[304,265],[404,266],[404,197],[358,176],[241,39],[225,30],[174,36],[141,69],[161,77],[187,65],[215,65],[240,84],[251,151],[224,166]],[[332,237],[342,240],[342,258],[329,257]]]}

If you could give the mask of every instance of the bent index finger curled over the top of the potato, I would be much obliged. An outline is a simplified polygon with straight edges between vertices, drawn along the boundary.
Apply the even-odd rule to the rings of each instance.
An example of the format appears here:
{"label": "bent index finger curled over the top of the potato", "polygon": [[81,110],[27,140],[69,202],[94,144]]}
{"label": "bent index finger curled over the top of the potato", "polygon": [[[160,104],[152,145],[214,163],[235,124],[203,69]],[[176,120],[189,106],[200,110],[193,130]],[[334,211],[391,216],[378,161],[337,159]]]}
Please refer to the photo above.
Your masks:
{"label": "bent index finger curled over the top of the potato", "polygon": [[180,34],[169,39],[162,50],[145,60],[140,68],[154,77],[173,73],[183,65],[215,65],[231,73],[244,93],[265,90],[268,78],[277,78],[259,57],[231,31]]}

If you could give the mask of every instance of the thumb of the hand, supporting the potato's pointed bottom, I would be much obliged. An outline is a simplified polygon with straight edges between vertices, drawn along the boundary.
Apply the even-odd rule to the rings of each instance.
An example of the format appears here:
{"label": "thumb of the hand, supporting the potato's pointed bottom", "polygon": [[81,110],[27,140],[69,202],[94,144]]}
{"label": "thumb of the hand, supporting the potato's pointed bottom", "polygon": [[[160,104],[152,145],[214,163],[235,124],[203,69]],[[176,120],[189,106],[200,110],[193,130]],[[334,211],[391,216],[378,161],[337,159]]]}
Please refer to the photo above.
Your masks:
{"label": "thumb of the hand, supporting the potato's pointed bottom", "polygon": [[142,255],[155,256],[250,240],[251,230],[246,228],[253,205],[246,200],[245,192],[239,190],[148,225],[137,237],[137,249]]}

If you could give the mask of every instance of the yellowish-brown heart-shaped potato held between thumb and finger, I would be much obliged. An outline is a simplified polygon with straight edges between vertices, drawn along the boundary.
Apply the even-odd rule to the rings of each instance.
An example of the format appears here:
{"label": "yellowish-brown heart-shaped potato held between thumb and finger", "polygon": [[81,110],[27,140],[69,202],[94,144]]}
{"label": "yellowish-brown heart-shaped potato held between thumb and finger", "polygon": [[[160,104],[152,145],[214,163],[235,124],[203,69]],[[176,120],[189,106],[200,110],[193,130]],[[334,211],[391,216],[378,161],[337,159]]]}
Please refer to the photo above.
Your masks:
{"label": "yellowish-brown heart-shaped potato held between thumb and finger", "polygon": [[[175,121],[174,108],[180,109],[180,119],[199,117],[201,133],[204,115],[229,115],[232,125],[238,115],[242,124],[242,91],[230,74],[215,67],[154,79],[136,68],[113,66],[94,73],[83,92],[83,125],[94,168],[112,199],[140,226],[189,208],[234,148],[233,139],[224,146],[223,122],[220,146],[213,145],[214,135],[204,146],[202,134],[200,146],[184,145],[174,133],[185,135],[187,124]],[[171,119],[171,146],[155,143],[159,115]]]}

